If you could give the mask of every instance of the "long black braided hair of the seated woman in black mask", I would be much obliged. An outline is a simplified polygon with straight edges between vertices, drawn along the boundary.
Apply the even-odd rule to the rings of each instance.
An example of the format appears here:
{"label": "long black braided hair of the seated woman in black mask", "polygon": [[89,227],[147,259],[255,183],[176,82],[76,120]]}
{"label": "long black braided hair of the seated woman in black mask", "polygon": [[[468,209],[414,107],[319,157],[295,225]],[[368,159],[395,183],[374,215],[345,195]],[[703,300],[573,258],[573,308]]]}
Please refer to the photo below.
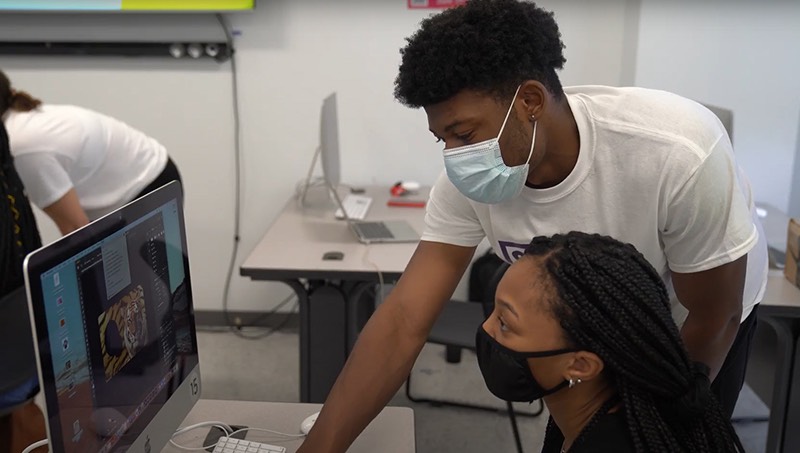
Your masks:
{"label": "long black braided hair of the seated woman in black mask", "polygon": [[551,309],[568,341],[605,363],[637,452],[744,451],[711,394],[708,368],[689,359],[661,276],[641,253],[571,232],[534,238],[525,255],[541,260],[556,288]]}

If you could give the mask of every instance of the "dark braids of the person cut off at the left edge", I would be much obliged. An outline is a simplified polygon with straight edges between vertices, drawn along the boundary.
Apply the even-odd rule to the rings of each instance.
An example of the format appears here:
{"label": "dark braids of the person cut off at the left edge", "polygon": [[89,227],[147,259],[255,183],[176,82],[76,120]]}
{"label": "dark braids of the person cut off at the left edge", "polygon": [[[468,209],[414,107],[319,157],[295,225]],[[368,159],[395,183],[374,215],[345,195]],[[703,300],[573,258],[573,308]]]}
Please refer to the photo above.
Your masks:
{"label": "dark braids of the person cut off at the left edge", "polygon": [[25,255],[41,245],[36,219],[14,169],[8,135],[0,121],[0,297],[23,284]]}

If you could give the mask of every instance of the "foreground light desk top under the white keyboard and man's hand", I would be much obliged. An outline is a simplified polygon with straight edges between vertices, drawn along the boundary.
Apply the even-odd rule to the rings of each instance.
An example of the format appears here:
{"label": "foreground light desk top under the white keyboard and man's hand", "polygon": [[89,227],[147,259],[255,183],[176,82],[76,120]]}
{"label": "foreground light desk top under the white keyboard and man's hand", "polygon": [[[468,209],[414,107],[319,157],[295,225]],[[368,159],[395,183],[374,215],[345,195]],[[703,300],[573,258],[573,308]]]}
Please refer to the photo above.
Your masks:
{"label": "foreground light desk top under the white keyboard and man's hand", "polygon": [[[229,425],[299,433],[300,422],[321,407],[319,404],[302,403],[200,400],[181,426],[216,420]],[[208,428],[198,428],[179,436],[177,441],[183,446],[201,447],[207,434]],[[286,447],[287,453],[294,453],[303,442],[302,439],[284,440],[285,437],[259,432],[249,432],[246,439]],[[185,450],[170,444],[162,450],[162,453],[183,451]],[[351,453],[413,453],[414,451],[416,451],[414,413],[406,407],[384,408],[348,449]]]}

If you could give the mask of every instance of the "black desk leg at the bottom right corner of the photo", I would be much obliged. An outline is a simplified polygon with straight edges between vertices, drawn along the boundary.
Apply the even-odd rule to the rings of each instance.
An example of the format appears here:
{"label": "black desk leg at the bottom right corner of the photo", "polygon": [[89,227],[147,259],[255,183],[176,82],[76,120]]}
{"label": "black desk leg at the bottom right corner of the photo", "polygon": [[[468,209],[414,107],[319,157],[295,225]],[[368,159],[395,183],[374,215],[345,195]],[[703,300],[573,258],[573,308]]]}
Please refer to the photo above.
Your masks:
{"label": "black desk leg at the bottom right corner of the photo", "polygon": [[[772,402],[769,413],[769,429],[767,432],[767,453],[781,453],[800,450],[784,449],[785,441],[794,434],[787,430],[787,416],[791,413],[789,397],[792,387],[792,363],[795,358],[795,335],[789,320],[777,319],[771,316],[762,318],[773,329],[777,336],[775,384],[772,390]],[[800,408],[798,408],[800,409]],[[797,409],[795,409],[797,410]]]}

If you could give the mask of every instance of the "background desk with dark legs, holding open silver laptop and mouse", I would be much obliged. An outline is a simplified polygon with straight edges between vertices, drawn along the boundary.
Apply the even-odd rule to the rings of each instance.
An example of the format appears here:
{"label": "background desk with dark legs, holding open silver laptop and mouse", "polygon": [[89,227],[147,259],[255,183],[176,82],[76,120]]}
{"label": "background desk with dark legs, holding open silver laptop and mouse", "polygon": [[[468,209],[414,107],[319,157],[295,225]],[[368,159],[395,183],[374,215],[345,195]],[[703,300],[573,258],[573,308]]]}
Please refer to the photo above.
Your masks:
{"label": "background desk with dark legs, holding open silver laptop and mouse", "polygon": [[[406,220],[423,232],[424,209],[388,207],[388,187],[366,189],[373,201],[365,220]],[[414,198],[427,196],[425,189]],[[368,317],[371,304],[365,295],[379,280],[376,266],[387,283],[393,282],[417,246],[359,243],[347,223],[334,218],[333,204],[325,198],[311,199],[306,208],[289,200],[240,268],[245,277],[282,281],[297,293],[300,400],[312,403],[325,401]],[[331,251],[344,253],[344,259],[323,260]]]}

